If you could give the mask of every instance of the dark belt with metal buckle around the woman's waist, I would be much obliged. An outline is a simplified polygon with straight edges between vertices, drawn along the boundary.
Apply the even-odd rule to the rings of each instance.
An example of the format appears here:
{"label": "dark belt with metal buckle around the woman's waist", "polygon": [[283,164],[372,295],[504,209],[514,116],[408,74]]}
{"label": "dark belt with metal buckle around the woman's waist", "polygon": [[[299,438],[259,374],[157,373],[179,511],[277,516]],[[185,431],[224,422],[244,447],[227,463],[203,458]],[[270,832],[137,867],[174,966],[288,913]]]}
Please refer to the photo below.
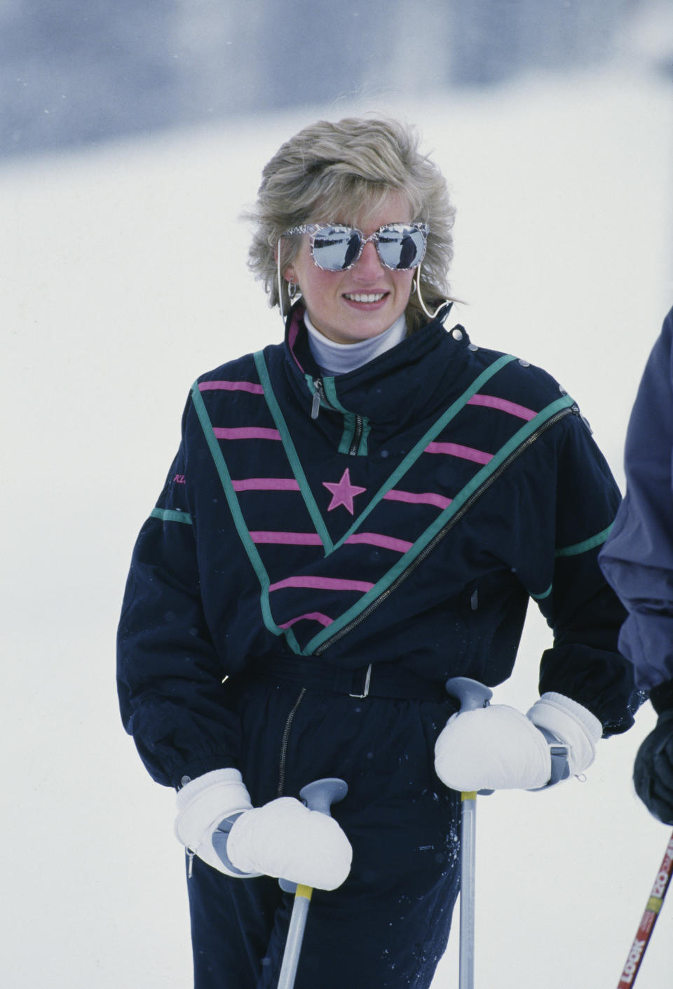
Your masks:
{"label": "dark belt with metal buckle around the woman's waist", "polygon": [[371,663],[369,667],[345,670],[317,659],[274,656],[254,659],[243,674],[253,679],[296,683],[321,693],[350,697],[386,697],[390,700],[446,701],[458,704],[444,687],[444,680],[429,680],[396,663]]}

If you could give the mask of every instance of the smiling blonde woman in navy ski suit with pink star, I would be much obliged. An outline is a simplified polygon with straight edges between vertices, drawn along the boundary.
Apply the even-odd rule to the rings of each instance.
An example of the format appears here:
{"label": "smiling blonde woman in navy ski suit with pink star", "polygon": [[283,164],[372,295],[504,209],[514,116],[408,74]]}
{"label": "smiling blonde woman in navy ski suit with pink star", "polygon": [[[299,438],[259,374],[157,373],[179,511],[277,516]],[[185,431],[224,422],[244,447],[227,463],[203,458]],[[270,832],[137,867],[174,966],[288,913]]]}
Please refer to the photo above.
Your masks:
{"label": "smiling blonde woman in navy ski suit with pink star", "polygon": [[[123,718],[179,791],[198,989],[277,984],[276,876],[316,887],[297,989],[427,987],[457,789],[544,787],[631,725],[596,561],[619,494],[552,378],[445,326],[454,209],[411,129],[306,128],[254,219],[285,342],[192,390],[133,553]],[[542,697],[452,718],[445,680],[505,680],[529,597]],[[297,799],[325,776],[332,820]]]}

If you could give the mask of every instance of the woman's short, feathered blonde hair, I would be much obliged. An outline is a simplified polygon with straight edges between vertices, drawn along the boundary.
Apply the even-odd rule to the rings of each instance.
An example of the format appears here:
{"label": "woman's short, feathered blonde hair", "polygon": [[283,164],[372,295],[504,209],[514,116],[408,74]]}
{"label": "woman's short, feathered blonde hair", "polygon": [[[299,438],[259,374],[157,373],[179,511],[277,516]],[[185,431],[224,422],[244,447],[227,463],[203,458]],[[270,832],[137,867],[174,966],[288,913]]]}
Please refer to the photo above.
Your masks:
{"label": "woman's short, feathered blonde hair", "polygon": [[[413,220],[429,225],[421,266],[421,293],[426,306],[450,299],[447,272],[454,255],[456,210],[438,166],[419,150],[415,128],[395,120],[350,117],[336,123],[318,121],[299,131],[277,151],[262,172],[257,203],[245,216],[255,223],[248,264],[264,282],[270,306],[280,305],[276,251],[282,269],[294,260],[298,237],[282,235],[292,226],[316,219],[340,220],[342,212],[374,214],[390,190],[409,201]],[[279,243],[279,241],[281,241]],[[283,310],[289,309],[282,280]],[[407,323],[416,329],[427,321],[412,293]]]}

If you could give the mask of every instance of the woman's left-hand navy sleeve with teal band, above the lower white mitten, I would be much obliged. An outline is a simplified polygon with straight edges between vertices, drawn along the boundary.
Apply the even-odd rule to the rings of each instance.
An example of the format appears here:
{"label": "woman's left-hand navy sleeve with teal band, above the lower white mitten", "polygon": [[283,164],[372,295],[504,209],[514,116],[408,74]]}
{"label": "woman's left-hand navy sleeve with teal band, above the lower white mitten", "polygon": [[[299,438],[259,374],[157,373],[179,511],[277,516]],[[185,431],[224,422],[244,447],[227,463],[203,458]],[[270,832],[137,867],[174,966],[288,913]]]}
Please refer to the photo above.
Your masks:
{"label": "woman's left-hand navy sleeve with teal band, above the lower white mitten", "polygon": [[152,777],[235,765],[239,725],[202,606],[184,431],[133,549],[118,632],[122,720]]}

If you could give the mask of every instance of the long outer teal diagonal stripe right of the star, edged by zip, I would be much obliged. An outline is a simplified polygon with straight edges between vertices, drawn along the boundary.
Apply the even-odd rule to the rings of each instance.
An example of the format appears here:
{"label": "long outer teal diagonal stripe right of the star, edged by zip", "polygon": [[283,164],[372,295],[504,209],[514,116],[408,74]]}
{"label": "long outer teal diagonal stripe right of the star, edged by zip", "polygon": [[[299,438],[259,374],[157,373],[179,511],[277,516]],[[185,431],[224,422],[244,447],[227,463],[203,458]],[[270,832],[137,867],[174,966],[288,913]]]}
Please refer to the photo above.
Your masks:
{"label": "long outer teal diagonal stripe right of the star, edged by zip", "polygon": [[[511,453],[516,450],[518,446],[521,446],[529,436],[536,432],[547,419],[555,415],[556,412],[560,411],[562,408],[567,408],[570,405],[574,405],[573,400],[570,396],[563,396],[561,399],[557,399],[552,402],[551,405],[547,405],[535,418],[531,419],[522,426],[518,432],[512,436],[512,438],[502,446],[498,452],[492,457],[492,459],[481,468],[480,471],[474,475],[471,481],[469,481],[463,489],[456,495],[454,500],[448,505],[444,511],[438,515],[436,520],[430,525],[422,536],[416,540],[410,550],[404,554],[403,557],[392,567],[384,577],[368,590],[360,600],[348,609],[340,618],[335,619],[331,625],[327,628],[322,629],[317,635],[313,636],[310,642],[307,643],[305,649],[303,649],[303,655],[310,655],[318,646],[322,645],[327,639],[330,639],[335,632],[338,632],[348,625],[350,621],[357,618],[370,604],[372,604],[379,596],[382,594],[391,584],[393,584],[397,578],[414,562],[416,557],[425,549],[429,542],[434,539],[437,533],[447,524],[447,522],[452,518],[453,515],[461,508],[470,494],[473,494],[480,485],[482,485],[488,478],[498,469],[498,467],[503,463],[504,460],[509,457]],[[345,537],[344,537],[345,538]],[[343,540],[342,540],[343,542]]]}

